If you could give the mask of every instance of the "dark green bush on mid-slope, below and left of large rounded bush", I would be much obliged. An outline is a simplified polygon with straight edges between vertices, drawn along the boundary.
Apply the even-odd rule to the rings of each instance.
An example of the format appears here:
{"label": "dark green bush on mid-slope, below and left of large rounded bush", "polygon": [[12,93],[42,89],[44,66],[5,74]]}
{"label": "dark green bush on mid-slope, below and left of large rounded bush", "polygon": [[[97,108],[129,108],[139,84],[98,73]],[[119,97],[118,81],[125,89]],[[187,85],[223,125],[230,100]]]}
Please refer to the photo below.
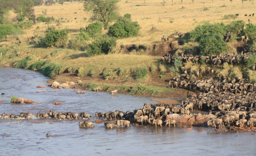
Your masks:
{"label": "dark green bush on mid-slope, below and left of large rounded bush", "polygon": [[116,39],[109,36],[104,36],[93,41],[88,45],[87,53],[91,55],[108,54],[116,46]]}

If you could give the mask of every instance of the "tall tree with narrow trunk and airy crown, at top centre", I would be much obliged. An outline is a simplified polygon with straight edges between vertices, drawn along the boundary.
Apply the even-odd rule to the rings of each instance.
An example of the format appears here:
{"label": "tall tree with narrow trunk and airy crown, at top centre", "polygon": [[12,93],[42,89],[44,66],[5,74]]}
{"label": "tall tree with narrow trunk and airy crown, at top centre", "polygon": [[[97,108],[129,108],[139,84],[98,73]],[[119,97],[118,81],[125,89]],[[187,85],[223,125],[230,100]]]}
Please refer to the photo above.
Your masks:
{"label": "tall tree with narrow trunk and airy crown, at top centre", "polygon": [[104,29],[117,17],[117,2],[119,0],[85,0],[85,11],[92,12],[91,20],[99,20],[104,24]]}

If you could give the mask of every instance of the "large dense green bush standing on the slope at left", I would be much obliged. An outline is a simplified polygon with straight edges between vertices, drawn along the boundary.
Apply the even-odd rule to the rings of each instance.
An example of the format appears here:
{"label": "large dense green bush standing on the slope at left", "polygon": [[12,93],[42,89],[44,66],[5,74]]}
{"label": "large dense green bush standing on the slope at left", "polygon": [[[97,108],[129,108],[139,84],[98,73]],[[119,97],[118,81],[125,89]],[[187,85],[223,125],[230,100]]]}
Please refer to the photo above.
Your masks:
{"label": "large dense green bush standing on the slope at left", "polygon": [[46,36],[44,38],[44,44],[46,47],[64,47],[67,42],[67,30],[55,30],[52,29],[46,32]]}

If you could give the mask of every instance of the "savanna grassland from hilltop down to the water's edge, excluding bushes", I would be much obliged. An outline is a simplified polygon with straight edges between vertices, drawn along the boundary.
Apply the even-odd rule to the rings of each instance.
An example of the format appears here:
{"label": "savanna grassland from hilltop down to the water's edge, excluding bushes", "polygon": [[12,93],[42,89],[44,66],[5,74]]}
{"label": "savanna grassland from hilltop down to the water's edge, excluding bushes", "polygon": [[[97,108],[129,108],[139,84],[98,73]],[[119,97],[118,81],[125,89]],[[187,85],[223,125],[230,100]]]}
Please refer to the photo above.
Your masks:
{"label": "savanna grassland from hilltop down to the water's edge, excluding bushes", "polygon": [[[136,37],[117,39],[117,45],[109,54],[88,56],[86,49],[70,48],[68,43],[63,48],[37,46],[35,43],[40,42],[39,38],[45,35],[49,27],[66,29],[70,41],[76,38],[80,29],[92,23],[91,14],[84,11],[82,2],[65,2],[63,5],[56,3],[50,6],[43,4],[35,6],[35,15],[54,17],[54,20],[37,22],[23,30],[22,34],[7,36],[0,42],[0,52],[2,52],[0,65],[32,70],[38,68],[39,72],[50,76],[51,81],[82,80],[85,88],[89,89],[102,86],[106,91],[118,88],[121,92],[130,91],[137,95],[186,96],[185,90],[167,88],[169,87],[167,80],[172,78],[174,73],[169,70],[172,65],[161,62],[160,58],[169,51],[183,52],[187,47],[196,46],[196,43],[179,45],[178,35],[175,35],[173,41],[163,43],[161,37],[176,32],[189,32],[204,22],[229,24],[232,21],[243,20],[247,24],[250,19],[252,24],[256,24],[256,16],[249,16],[256,8],[254,0],[244,1],[243,4],[241,0],[120,0],[118,7],[119,15],[124,16],[129,13],[131,20],[138,22],[140,30]],[[234,19],[224,18],[225,15],[235,14],[239,16],[235,16]],[[247,16],[244,16],[245,14]],[[15,13],[9,11],[10,23],[14,21],[14,17]],[[106,32],[107,30],[102,28],[102,34]],[[237,41],[228,43],[230,48],[223,52],[240,53],[237,47],[243,47],[244,43],[239,38],[237,36]],[[93,39],[86,44],[92,41]],[[170,48],[171,43],[175,48]],[[139,46],[142,48],[130,48]],[[202,68],[202,71],[210,68],[207,65],[201,66],[191,62],[184,66]],[[241,71],[238,72],[241,76],[243,76],[242,66],[236,67]],[[215,71],[225,72],[224,68],[216,67]],[[227,68],[234,71],[233,66]],[[249,72],[255,75],[255,71]],[[207,74],[204,77],[208,77]]]}

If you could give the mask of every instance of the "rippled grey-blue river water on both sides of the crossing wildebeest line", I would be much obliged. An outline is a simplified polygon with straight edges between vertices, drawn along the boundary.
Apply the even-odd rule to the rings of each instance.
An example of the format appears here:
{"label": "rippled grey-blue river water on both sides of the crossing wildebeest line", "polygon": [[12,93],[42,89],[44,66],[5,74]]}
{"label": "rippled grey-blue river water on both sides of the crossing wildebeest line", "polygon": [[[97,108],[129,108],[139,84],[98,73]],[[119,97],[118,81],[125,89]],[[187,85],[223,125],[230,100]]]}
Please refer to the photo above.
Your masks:
{"label": "rippled grey-blue river water on both sides of the crossing wildebeest line", "polygon": [[[85,91],[76,94],[72,89],[36,88],[47,85],[48,77],[40,73],[0,67],[0,114],[20,112],[45,113],[74,111],[133,111],[144,103],[154,103],[149,97],[114,95]],[[36,91],[47,91],[36,93]],[[27,98],[39,104],[11,104],[12,96]],[[54,105],[60,101],[64,104]],[[36,123],[35,121],[39,121]],[[105,129],[94,123],[94,128],[79,128],[77,120],[55,119],[0,119],[0,156],[5,155],[179,155],[179,156],[255,156],[254,132],[216,132],[211,128],[154,128],[133,126]],[[205,130],[200,132],[199,129]],[[46,137],[46,133],[50,137]]]}

